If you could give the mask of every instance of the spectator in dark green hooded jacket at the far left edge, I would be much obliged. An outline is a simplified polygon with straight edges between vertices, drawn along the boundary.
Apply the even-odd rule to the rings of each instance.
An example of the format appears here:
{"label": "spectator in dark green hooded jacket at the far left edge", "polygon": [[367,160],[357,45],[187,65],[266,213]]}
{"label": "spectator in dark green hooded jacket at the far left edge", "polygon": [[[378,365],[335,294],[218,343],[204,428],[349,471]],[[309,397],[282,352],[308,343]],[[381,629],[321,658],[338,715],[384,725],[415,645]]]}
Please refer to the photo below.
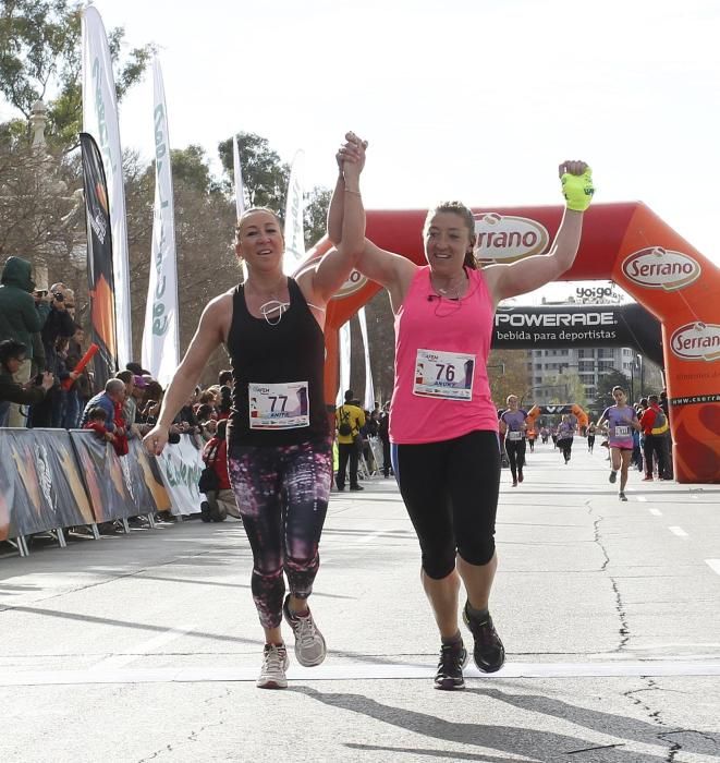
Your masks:
{"label": "spectator in dark green hooded jacket at the far left edge", "polygon": [[[0,341],[14,339],[25,346],[25,360],[22,362],[14,380],[26,384],[32,376],[34,348],[41,353],[41,344],[37,341],[40,331],[40,316],[35,307],[33,291],[35,283],[32,279],[32,265],[21,257],[8,257],[0,278]],[[35,339],[35,343],[34,343]],[[45,371],[45,359],[36,359],[41,363],[39,370]],[[9,426],[25,426],[25,419],[19,405],[11,405],[8,419]]]}

